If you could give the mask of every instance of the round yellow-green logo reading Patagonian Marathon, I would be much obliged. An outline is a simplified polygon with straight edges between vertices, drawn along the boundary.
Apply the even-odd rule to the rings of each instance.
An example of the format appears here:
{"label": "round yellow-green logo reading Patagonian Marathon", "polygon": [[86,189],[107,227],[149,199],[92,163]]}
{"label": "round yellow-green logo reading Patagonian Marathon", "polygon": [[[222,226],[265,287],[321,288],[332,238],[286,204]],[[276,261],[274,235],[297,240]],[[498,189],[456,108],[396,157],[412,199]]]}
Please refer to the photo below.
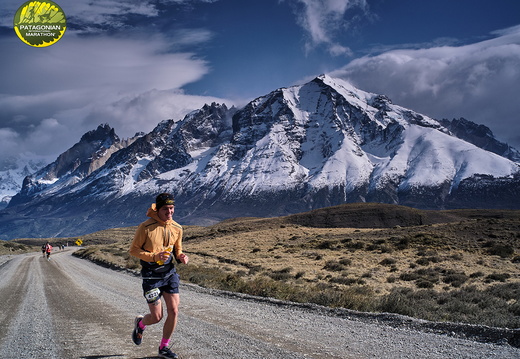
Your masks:
{"label": "round yellow-green logo reading Patagonian Marathon", "polygon": [[14,15],[14,31],[27,45],[55,44],[67,28],[65,13],[52,1],[27,1]]}

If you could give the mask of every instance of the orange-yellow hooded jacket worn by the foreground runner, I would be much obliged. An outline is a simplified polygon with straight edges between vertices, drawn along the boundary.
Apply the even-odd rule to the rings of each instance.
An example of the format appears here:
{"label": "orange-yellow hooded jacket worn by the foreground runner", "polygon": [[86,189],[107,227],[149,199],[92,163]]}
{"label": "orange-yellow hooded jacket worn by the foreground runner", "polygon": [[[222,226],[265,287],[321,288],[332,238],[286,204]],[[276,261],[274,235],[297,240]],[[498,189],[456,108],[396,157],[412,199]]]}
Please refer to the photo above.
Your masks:
{"label": "orange-yellow hooded jacket worn by the foreground runner", "polygon": [[146,215],[150,219],[137,228],[130,254],[145,262],[155,262],[155,254],[163,252],[166,247],[173,246],[175,259],[182,253],[182,227],[174,220],[162,221],[157,215],[155,203],[148,209]]}

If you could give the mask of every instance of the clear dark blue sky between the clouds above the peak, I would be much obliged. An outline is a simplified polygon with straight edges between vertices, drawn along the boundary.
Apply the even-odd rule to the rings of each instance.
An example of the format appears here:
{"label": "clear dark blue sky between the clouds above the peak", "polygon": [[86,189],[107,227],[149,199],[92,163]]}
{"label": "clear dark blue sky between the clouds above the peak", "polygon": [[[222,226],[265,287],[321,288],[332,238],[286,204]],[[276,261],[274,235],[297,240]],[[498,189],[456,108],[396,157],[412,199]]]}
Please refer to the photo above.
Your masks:
{"label": "clear dark blue sky between the clouds above the peak", "polygon": [[333,56],[327,43],[306,51],[310,36],[297,24],[298,7],[290,1],[230,0],[186,12],[186,25],[210,29],[214,38],[198,51],[210,60],[212,72],[184,88],[220,97],[260,96],[366,54],[478,42],[520,22],[520,2],[514,0],[369,1],[366,13],[354,8],[343,25],[328,27],[332,41],[352,51]]}

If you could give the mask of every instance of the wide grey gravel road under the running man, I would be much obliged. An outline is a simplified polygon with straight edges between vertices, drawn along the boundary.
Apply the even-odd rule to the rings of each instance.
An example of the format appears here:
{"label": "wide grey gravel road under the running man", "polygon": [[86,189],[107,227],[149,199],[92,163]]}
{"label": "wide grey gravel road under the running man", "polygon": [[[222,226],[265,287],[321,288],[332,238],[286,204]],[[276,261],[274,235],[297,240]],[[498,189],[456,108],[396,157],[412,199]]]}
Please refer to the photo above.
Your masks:
{"label": "wide grey gravel road under the running man", "polygon": [[[149,326],[140,346],[131,340],[134,317],[147,309],[140,279],[71,253],[0,257],[0,358],[155,358],[162,325]],[[505,341],[434,333],[421,321],[186,284],[180,310],[173,350],[183,359],[520,358]]]}

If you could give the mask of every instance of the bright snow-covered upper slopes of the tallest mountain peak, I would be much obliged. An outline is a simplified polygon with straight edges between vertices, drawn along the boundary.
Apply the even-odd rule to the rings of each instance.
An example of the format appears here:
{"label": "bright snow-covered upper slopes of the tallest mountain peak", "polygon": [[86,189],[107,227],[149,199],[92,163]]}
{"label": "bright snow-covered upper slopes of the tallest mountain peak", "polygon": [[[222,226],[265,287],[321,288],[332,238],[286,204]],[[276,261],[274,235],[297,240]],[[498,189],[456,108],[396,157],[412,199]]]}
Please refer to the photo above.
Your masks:
{"label": "bright snow-covered upper slopes of the tallest mountain peak", "polygon": [[[243,158],[246,175],[254,174],[247,178],[252,190],[306,183],[342,185],[349,192],[370,178],[376,187],[391,180],[400,181],[400,189],[445,182],[456,187],[475,174],[518,171],[515,163],[448,135],[431,118],[390,103],[383,112],[369,105],[377,95],[328,76],[318,79],[284,89],[278,101],[273,95],[255,101],[250,117],[274,114],[277,121],[269,128],[259,123],[257,132],[265,136]],[[336,92],[327,97],[323,85]],[[398,138],[388,142],[385,131],[392,126],[399,128]],[[244,178],[230,180],[247,186]]]}

